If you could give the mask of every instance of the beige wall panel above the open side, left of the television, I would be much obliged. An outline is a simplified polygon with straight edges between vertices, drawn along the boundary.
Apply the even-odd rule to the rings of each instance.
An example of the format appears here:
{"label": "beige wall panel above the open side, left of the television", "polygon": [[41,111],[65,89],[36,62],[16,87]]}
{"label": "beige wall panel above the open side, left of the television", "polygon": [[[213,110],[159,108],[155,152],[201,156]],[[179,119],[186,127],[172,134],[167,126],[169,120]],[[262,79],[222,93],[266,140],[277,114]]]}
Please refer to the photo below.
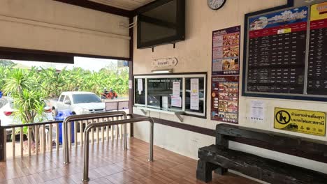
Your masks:
{"label": "beige wall panel above the open side, left of the television", "polygon": [[129,57],[127,17],[49,0],[0,5],[0,47]]}

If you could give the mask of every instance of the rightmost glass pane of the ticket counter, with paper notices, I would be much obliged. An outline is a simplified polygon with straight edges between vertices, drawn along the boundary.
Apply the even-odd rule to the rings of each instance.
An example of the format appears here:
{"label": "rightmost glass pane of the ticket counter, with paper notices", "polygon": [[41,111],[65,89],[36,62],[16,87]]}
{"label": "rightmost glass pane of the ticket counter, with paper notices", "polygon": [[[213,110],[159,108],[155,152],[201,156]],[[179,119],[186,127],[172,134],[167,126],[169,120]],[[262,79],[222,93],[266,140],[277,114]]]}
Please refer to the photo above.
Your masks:
{"label": "rightmost glass pane of the ticket counter, with paper notices", "polygon": [[[198,96],[191,97],[191,79],[198,82]],[[198,98],[198,107],[191,108],[191,100]],[[205,112],[205,78],[204,77],[190,77],[185,78],[185,112],[196,112],[203,114]]]}

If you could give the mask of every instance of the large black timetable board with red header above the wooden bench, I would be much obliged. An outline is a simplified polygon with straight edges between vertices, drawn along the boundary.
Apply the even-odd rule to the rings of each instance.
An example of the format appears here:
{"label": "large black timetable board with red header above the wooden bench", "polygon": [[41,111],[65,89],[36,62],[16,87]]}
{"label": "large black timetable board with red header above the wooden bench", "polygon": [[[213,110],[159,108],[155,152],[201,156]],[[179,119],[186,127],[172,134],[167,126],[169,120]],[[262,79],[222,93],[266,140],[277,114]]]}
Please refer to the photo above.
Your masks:
{"label": "large black timetable board with red header above the wooden bench", "polygon": [[327,100],[327,2],[246,19],[243,95]]}

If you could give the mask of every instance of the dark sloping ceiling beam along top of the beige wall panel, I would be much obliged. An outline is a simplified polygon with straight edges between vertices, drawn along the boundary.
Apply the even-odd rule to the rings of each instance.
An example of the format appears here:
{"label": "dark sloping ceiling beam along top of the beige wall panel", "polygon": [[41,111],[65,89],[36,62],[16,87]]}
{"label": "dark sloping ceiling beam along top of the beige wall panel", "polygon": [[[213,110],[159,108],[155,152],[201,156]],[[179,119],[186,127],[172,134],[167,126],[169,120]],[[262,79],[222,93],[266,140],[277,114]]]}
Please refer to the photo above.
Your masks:
{"label": "dark sloping ceiling beam along top of the beige wall panel", "polygon": [[123,17],[132,17],[133,16],[133,13],[129,10],[124,10],[122,8],[116,8],[113,6],[108,6],[108,5],[104,5],[102,3],[96,3],[96,2],[88,1],[88,0],[78,0],[78,1],[76,1],[76,0],[53,0],[53,1],[59,1],[61,3],[68,3],[71,5],[80,6],[83,8],[89,8],[92,10],[98,10],[101,12],[119,15],[119,16],[123,16]]}

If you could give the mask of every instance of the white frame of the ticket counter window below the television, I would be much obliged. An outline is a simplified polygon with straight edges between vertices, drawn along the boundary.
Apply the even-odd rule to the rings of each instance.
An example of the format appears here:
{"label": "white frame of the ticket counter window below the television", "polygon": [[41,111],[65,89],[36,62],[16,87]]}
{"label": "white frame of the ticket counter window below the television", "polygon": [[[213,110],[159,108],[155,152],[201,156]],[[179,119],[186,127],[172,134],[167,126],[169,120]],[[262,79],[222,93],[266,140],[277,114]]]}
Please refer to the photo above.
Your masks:
{"label": "white frame of the ticket counter window below the television", "polygon": [[[181,78],[182,79],[182,115],[185,116],[194,116],[198,118],[207,118],[207,91],[208,91],[208,75],[207,72],[191,72],[191,73],[172,73],[172,74],[148,74],[148,75],[134,75],[133,76],[133,84],[136,86],[137,79],[145,79],[145,105],[136,103],[136,89],[133,91],[134,107],[149,107],[150,109],[156,109],[155,107],[147,105],[147,79],[162,79],[162,78]],[[185,109],[185,100],[186,100],[186,79],[187,78],[203,78],[203,113],[200,112],[190,112]],[[172,111],[177,111],[176,109],[168,109]],[[164,112],[164,111],[163,111]],[[167,111],[168,112],[168,111]]]}

